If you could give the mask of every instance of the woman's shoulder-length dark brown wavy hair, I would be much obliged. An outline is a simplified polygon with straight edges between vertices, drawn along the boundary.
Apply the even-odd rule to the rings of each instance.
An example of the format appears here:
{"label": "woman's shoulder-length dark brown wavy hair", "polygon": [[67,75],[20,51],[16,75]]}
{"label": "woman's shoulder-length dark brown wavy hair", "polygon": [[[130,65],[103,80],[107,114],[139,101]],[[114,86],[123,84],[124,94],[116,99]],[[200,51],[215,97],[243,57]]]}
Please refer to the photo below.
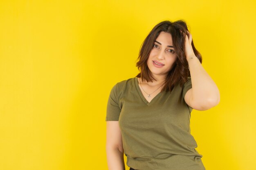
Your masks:
{"label": "woman's shoulder-length dark brown wavy hair", "polygon": [[[166,92],[171,92],[178,83],[180,83],[180,86],[182,87],[187,81],[187,77],[190,76],[189,65],[184,52],[184,40],[187,30],[188,28],[186,22],[183,20],[178,20],[175,22],[163,21],[157,24],[141,44],[138,57],[139,61],[136,63],[140,73],[136,77],[140,77],[142,81],[146,80],[147,82],[153,82],[153,80],[155,80],[150,74],[147,60],[155,43],[155,39],[157,39],[160,32],[164,31],[165,33],[170,33],[172,36],[173,48],[177,53],[177,59],[173,65],[173,68],[169,71],[166,77],[162,91],[165,90]],[[193,40],[191,45],[195,56],[199,59],[200,63],[202,63],[201,54],[195,49]]]}

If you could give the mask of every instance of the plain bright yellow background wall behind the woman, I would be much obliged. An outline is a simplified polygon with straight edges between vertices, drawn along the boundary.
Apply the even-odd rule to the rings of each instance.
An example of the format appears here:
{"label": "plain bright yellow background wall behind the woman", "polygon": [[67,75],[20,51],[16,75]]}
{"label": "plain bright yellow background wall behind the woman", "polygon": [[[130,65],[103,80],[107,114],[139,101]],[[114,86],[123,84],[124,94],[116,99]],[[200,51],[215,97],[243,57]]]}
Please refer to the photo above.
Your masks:
{"label": "plain bright yellow background wall behind the woman", "polygon": [[204,166],[255,170],[255,9],[254,0],[1,0],[0,169],[107,170],[110,89],[138,73],[153,26],[183,19],[220,90],[218,106],[191,113]]}

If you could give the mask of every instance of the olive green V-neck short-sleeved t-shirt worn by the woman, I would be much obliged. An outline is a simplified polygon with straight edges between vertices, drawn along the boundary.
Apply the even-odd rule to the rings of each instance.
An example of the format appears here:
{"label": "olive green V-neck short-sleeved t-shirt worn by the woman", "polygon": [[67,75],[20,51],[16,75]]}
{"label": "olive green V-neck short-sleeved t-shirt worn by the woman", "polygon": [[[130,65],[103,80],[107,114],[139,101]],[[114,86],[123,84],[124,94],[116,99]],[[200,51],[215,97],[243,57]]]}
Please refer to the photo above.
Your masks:
{"label": "olive green V-neck short-sleeved t-shirt worn by the woman", "polygon": [[127,166],[136,170],[205,170],[190,134],[192,108],[184,100],[191,88],[188,77],[183,87],[160,92],[150,102],[137,77],[112,88],[106,121],[119,121]]}

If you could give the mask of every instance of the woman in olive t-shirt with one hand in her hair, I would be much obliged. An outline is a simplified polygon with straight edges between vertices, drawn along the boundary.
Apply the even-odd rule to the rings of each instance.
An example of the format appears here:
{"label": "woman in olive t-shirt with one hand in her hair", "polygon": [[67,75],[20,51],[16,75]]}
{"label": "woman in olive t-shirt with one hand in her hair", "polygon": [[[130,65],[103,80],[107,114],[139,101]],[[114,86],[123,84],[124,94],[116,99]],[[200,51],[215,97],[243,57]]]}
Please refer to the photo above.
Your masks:
{"label": "woman in olive t-shirt with one hand in her hair", "polygon": [[[218,105],[186,23],[163,21],[144,40],[140,73],[117,83],[107,105],[109,170],[205,170],[190,134],[192,109]],[[193,88],[192,88],[193,87]]]}

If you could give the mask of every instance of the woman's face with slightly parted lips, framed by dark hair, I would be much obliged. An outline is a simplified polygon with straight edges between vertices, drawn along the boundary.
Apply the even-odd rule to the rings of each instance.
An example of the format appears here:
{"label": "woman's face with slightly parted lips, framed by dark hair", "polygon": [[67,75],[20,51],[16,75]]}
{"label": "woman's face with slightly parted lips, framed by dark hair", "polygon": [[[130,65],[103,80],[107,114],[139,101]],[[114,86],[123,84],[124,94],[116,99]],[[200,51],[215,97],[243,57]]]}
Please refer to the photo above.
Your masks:
{"label": "woman's face with slightly parted lips, framed by dark hair", "polygon": [[153,77],[167,76],[173,68],[177,54],[173,48],[173,39],[170,33],[161,32],[149,54],[147,64]]}

